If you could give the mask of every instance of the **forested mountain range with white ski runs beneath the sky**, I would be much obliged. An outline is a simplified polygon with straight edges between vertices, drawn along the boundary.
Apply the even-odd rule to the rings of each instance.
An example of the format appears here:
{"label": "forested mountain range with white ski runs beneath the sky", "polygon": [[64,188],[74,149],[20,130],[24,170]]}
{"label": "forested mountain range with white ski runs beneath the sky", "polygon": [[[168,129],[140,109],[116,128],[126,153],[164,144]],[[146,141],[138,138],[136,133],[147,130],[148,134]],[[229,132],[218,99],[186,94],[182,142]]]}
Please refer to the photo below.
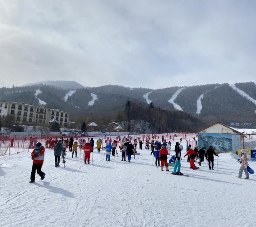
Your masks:
{"label": "forested mountain range with white ski runs beneath the sky", "polygon": [[[40,92],[36,92],[39,90]],[[126,101],[186,112],[207,122],[249,123],[256,126],[256,83],[208,84],[164,89],[129,88],[119,85],[84,87],[76,81],[41,81],[0,89],[0,101],[23,101],[77,114],[112,113]],[[72,119],[72,118],[71,118]],[[239,126],[239,125],[236,125]]]}

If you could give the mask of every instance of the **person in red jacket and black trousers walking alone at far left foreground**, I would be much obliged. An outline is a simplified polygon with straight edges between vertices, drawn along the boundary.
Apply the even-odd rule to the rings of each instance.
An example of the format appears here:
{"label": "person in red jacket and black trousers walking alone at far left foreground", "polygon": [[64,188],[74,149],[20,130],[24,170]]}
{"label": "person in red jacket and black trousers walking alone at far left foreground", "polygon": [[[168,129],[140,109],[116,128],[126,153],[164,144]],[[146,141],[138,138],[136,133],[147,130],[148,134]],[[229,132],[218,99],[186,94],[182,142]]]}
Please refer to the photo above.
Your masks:
{"label": "person in red jacket and black trousers walking alone at far left foreground", "polygon": [[44,147],[40,142],[36,143],[36,147],[32,151],[31,157],[33,160],[33,165],[29,183],[35,182],[36,172],[41,177],[41,180],[44,180],[45,173],[41,170],[44,163]]}

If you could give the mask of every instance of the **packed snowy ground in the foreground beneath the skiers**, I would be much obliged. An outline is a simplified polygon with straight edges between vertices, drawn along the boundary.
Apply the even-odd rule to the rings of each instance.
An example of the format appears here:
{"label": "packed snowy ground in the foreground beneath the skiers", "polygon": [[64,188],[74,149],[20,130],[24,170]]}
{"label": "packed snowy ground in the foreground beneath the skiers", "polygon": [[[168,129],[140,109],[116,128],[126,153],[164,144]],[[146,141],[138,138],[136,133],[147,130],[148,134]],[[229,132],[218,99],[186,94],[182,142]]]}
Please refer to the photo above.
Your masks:
{"label": "packed snowy ground in the foreground beneath the skiers", "polygon": [[[184,144],[185,147],[185,144]],[[143,147],[144,148],[144,147]],[[93,164],[84,165],[82,153],[66,168],[54,167],[53,150],[46,150],[42,171],[29,184],[29,152],[0,157],[1,227],[236,227],[254,226],[256,178],[238,179],[239,164],[231,154],[220,154],[218,171],[202,164],[173,176],[152,166],[150,151],[138,150],[132,162],[94,150]],[[174,152],[172,152],[173,154]],[[183,152],[184,153],[184,152]],[[250,166],[256,169],[255,162]],[[170,167],[172,170],[172,167]],[[165,168],[164,168],[165,170]],[[244,175],[243,175],[244,177]]]}

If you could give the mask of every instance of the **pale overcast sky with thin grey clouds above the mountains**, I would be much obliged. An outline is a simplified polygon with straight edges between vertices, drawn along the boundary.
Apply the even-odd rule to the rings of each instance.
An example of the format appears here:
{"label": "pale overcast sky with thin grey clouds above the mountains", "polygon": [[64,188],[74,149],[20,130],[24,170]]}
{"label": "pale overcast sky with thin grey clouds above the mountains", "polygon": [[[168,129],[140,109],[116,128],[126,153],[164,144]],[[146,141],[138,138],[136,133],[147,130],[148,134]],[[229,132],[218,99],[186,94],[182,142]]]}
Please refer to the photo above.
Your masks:
{"label": "pale overcast sky with thin grey clouds above the mountains", "polygon": [[254,0],[0,0],[1,85],[256,81]]}

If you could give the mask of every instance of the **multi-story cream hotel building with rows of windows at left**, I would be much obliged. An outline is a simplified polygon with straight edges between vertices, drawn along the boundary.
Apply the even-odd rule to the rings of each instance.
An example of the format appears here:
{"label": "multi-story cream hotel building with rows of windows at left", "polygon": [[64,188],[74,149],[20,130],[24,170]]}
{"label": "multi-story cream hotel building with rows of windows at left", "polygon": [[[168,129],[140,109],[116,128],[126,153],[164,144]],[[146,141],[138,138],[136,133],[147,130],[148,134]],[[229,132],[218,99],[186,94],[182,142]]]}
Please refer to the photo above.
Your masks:
{"label": "multi-story cream hotel building with rows of windows at left", "polygon": [[41,106],[32,106],[22,102],[0,102],[0,116],[13,116],[16,122],[24,124],[38,123],[47,124],[51,119],[55,119],[61,126],[68,126],[70,113],[60,109],[48,109]]}

